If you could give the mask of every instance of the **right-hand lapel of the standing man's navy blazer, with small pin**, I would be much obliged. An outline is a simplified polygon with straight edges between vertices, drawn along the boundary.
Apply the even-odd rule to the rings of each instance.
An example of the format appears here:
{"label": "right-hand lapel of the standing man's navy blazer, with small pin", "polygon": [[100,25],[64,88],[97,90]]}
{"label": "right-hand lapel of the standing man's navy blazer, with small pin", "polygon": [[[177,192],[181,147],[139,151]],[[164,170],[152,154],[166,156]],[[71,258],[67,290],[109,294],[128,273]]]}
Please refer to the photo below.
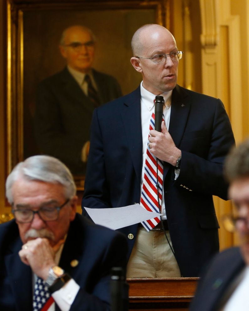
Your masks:
{"label": "right-hand lapel of the standing man's navy blazer, with small pin", "polygon": [[[186,100],[187,96],[188,95],[178,85],[173,89],[168,130],[177,148],[179,148],[181,143],[190,110],[190,103]],[[167,162],[164,162],[164,178],[167,175],[169,168],[170,165]]]}

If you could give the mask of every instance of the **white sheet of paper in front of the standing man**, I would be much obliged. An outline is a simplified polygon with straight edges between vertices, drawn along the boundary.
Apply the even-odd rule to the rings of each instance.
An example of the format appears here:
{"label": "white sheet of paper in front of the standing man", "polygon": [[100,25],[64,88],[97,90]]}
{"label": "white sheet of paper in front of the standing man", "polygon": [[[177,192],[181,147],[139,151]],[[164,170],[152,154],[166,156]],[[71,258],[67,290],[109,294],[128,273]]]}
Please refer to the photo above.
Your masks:
{"label": "white sheet of paper in front of the standing man", "polygon": [[148,212],[138,203],[117,208],[84,208],[95,224],[114,230],[162,215]]}

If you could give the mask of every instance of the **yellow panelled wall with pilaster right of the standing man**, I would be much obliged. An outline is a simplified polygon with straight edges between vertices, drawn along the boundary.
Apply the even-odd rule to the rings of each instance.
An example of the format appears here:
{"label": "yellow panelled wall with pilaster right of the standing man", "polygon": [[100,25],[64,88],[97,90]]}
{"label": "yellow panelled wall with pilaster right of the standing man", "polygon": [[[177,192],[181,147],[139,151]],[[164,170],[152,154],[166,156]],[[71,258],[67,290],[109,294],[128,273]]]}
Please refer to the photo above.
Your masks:
{"label": "yellow panelled wall with pilaster right of the standing man", "polygon": [[[248,0],[199,0],[203,92],[219,97],[230,117],[236,143],[248,128]],[[232,211],[231,202],[215,198],[218,219]],[[221,223],[221,221],[220,221]],[[221,249],[237,244],[235,235],[221,225]]]}

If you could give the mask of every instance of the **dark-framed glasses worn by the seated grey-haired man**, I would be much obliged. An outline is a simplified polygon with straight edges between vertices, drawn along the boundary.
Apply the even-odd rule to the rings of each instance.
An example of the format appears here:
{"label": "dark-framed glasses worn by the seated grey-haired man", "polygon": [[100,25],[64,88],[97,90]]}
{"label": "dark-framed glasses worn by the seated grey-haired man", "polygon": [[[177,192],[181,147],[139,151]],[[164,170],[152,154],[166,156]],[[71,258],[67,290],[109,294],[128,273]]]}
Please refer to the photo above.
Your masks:
{"label": "dark-framed glasses worn by the seated grey-haired man", "polygon": [[61,206],[55,207],[41,207],[37,211],[29,208],[12,209],[12,213],[16,221],[20,224],[31,223],[34,219],[34,214],[38,214],[43,221],[55,221],[59,217],[61,208],[63,208],[70,199],[67,199]]}

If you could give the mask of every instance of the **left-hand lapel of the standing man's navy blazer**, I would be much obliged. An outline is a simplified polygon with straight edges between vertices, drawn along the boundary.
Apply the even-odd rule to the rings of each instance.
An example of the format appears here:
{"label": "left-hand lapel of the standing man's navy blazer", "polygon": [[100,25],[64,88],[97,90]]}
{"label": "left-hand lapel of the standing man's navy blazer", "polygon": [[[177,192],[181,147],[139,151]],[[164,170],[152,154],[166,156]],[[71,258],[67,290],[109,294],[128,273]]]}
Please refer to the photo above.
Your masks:
{"label": "left-hand lapel of the standing man's navy blazer", "polygon": [[141,100],[140,86],[130,94],[121,109],[125,135],[135,173],[140,183],[142,172],[142,129],[141,129]]}

